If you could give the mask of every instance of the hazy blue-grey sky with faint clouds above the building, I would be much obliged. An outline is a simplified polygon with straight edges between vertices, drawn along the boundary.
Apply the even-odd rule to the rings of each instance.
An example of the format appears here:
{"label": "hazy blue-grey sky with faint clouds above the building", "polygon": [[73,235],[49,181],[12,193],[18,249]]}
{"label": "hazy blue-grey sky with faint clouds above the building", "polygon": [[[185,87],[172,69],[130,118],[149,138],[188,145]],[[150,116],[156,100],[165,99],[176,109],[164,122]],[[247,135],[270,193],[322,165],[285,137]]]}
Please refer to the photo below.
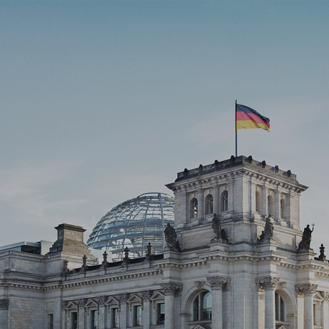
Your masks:
{"label": "hazy blue-grey sky with faint clouds above the building", "polygon": [[0,28],[0,245],[62,223],[86,241],[230,158],[237,99],[271,124],[240,130],[239,155],[297,174],[301,227],[329,250],[329,2],[2,1]]}

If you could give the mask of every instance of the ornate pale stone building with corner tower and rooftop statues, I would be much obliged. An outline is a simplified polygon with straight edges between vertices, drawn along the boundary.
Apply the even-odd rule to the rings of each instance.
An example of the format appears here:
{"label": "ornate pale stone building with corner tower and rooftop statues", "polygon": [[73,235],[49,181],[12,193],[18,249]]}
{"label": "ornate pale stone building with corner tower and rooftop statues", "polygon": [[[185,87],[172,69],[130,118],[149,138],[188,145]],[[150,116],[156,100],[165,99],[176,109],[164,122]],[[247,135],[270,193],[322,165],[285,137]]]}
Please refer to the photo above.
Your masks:
{"label": "ornate pale stone building with corner tower and rooftop statues", "polygon": [[163,253],[98,264],[67,224],[46,255],[1,252],[0,328],[329,329],[329,264],[300,229],[295,174],[232,156],[167,187]]}

